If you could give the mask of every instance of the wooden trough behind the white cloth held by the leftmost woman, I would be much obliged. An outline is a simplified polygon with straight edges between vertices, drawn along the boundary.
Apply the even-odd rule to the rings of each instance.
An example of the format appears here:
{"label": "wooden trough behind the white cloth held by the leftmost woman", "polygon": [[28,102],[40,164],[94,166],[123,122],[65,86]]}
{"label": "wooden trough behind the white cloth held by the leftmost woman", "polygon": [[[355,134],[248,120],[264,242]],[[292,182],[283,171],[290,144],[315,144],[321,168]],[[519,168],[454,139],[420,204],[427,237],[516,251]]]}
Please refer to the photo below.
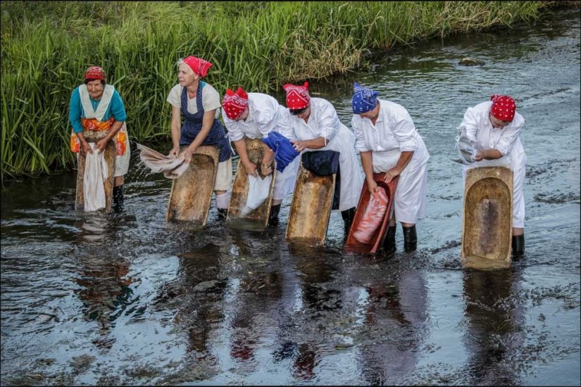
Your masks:
{"label": "wooden trough behind the white cloth held by the leftmost woman", "polygon": [[[92,130],[85,130],[83,135],[87,142],[96,142],[103,139],[108,134],[108,130],[102,130],[99,132]],[[111,205],[113,203],[113,178],[115,175],[115,155],[117,153],[117,147],[115,146],[115,141],[111,140],[105,147],[104,157],[107,163],[107,178],[103,182],[105,188],[105,210],[106,212],[111,211]],[[85,179],[85,159],[86,156],[77,153],[77,195],[75,196],[75,210],[84,211],[85,210],[85,192],[83,191],[84,184],[83,179]]]}

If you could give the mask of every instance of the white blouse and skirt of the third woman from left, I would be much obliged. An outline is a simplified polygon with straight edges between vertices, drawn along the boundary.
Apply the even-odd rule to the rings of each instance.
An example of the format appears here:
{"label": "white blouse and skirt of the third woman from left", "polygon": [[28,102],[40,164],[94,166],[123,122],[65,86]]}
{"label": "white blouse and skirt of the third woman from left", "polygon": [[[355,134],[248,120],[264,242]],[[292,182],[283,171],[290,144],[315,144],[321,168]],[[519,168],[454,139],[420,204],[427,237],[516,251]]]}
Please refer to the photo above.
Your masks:
{"label": "white blouse and skirt of the third woman from left", "polygon": [[[287,139],[294,139],[294,132],[286,126],[278,125],[280,119],[285,118],[286,108],[272,96],[262,93],[248,94],[248,117],[246,120],[230,120],[224,111],[222,118],[224,125],[228,129],[230,141],[238,141],[248,137],[249,139],[260,139],[268,136],[270,132],[278,132]],[[287,129],[287,130],[284,130]],[[284,132],[283,132],[284,131]],[[299,171],[300,160],[295,158],[287,165],[282,173],[278,173],[275,179],[273,199],[282,200],[294,190],[296,172]]]}

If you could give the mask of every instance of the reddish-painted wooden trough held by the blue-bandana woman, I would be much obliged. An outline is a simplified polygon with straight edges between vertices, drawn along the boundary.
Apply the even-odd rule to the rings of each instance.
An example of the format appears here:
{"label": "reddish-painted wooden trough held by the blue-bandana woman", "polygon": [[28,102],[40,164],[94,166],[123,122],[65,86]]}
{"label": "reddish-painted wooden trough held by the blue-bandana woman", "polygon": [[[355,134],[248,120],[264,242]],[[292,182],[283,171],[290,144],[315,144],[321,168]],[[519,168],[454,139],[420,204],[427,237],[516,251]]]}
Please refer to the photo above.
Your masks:
{"label": "reddish-painted wooden trough held by the blue-bandana woman", "polygon": [[389,228],[389,218],[392,217],[394,211],[394,197],[397,182],[399,182],[399,176],[392,179],[389,184],[384,182],[384,178],[385,172],[373,174],[373,180],[375,180],[378,186],[385,189],[385,193],[387,194],[387,210],[385,211],[383,221],[380,224],[380,227],[377,227],[373,233],[369,243],[361,243],[353,236],[357,224],[363,220],[363,213],[365,212],[371,198],[367,183],[363,183],[361,196],[359,196],[359,203],[357,204],[357,210],[355,211],[355,216],[353,217],[351,229],[349,229],[349,236],[346,241],[346,246],[350,250],[356,250],[359,253],[375,253],[381,246],[383,246],[383,240],[385,239],[385,234],[387,234],[387,229]]}

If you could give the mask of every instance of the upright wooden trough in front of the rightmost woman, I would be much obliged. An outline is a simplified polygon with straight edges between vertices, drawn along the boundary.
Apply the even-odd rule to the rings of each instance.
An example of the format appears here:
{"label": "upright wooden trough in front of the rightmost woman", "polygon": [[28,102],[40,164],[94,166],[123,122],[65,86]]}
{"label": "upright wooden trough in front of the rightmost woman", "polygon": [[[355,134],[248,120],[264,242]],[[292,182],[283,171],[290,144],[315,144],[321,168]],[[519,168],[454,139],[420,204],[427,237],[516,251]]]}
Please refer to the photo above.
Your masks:
{"label": "upright wooden trough in front of the rightmost woman", "polygon": [[466,171],[462,260],[475,269],[511,265],[513,171],[475,167]]}

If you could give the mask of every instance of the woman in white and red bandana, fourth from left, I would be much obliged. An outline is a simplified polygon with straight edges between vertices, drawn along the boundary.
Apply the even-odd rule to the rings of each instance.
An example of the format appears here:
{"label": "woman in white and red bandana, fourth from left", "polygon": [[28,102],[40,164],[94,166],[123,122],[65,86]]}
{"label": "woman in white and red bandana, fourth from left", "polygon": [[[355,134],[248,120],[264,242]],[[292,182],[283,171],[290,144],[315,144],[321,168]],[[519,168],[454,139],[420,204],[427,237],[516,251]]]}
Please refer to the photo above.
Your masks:
{"label": "woman in white and red bandana, fourth from left", "polygon": [[292,143],[296,151],[340,153],[339,210],[344,220],[345,234],[349,234],[363,184],[354,148],[355,136],[339,121],[329,101],[311,98],[308,82],[301,86],[285,84],[283,88],[287,92],[288,110],[286,119],[281,120],[280,125],[285,125],[294,133],[296,140]]}

